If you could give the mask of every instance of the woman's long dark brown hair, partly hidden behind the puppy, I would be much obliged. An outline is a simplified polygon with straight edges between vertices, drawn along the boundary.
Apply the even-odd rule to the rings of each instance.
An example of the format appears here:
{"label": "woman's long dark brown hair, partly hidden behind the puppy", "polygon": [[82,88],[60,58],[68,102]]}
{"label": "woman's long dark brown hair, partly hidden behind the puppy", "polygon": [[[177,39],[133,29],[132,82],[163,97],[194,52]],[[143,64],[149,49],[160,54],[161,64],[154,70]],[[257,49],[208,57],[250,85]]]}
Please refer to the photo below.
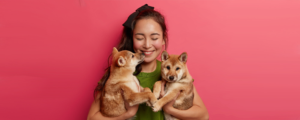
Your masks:
{"label": "woman's long dark brown hair, partly hidden behind the puppy", "polygon": [[[122,37],[120,39],[119,44],[116,47],[118,49],[118,51],[128,50],[128,51],[135,53],[133,50],[133,30],[134,30],[135,24],[138,22],[138,20],[141,20],[141,19],[153,19],[154,21],[159,23],[159,25],[162,27],[163,41],[165,42],[165,45],[163,47],[166,50],[168,48],[168,28],[165,24],[165,17],[158,11],[148,9],[148,10],[141,11],[138,14],[138,16],[136,16],[135,19],[132,20],[131,28],[128,28],[128,27],[123,28]],[[105,85],[106,81],[108,80],[109,74],[111,72],[110,71],[111,70],[111,63],[110,63],[111,55],[108,57],[108,67],[105,69],[106,72],[104,73],[104,75],[102,76],[102,78],[100,79],[100,81],[98,82],[98,85],[96,86],[96,88],[94,90],[95,100],[98,97],[99,91],[101,92],[101,95],[103,95],[104,85]],[[142,70],[141,64],[138,64],[135,67],[135,69],[137,70],[137,72],[134,73],[133,75],[136,76]]]}

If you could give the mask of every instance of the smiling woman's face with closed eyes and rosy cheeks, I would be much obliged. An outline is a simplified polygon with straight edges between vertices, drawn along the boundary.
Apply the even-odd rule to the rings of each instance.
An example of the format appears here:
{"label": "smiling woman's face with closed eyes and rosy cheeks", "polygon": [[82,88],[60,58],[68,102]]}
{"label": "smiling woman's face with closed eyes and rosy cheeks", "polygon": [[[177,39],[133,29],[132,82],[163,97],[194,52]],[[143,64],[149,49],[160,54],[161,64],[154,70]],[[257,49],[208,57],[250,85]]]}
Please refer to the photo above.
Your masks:
{"label": "smiling woman's face with closed eyes and rosy cheeks", "polygon": [[156,60],[162,51],[163,34],[159,23],[153,19],[138,20],[133,29],[133,49],[135,53],[144,52],[144,62]]}

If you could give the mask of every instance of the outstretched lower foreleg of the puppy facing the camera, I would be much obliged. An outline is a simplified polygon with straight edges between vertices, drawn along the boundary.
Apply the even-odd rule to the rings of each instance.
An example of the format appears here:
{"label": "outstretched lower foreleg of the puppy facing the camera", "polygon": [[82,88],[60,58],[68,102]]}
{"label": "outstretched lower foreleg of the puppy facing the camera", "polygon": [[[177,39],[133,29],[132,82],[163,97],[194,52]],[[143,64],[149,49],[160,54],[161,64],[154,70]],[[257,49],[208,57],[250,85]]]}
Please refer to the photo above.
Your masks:
{"label": "outstretched lower foreleg of the puppy facing the camera", "polygon": [[160,98],[156,103],[152,105],[153,112],[161,110],[162,106],[164,106],[168,102],[171,102],[176,97],[178,92],[178,90],[172,90],[167,92],[164,97]]}

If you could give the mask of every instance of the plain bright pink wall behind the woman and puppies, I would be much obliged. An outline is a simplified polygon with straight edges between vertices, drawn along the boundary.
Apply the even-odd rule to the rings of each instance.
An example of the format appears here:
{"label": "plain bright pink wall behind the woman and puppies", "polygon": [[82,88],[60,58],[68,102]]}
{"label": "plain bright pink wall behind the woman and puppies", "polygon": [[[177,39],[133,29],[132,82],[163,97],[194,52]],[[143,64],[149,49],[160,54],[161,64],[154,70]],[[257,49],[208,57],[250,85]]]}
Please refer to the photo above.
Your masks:
{"label": "plain bright pink wall behind the woman and puppies", "polygon": [[300,120],[300,1],[0,0],[0,119],[86,119],[122,24],[149,4],[211,120]]}

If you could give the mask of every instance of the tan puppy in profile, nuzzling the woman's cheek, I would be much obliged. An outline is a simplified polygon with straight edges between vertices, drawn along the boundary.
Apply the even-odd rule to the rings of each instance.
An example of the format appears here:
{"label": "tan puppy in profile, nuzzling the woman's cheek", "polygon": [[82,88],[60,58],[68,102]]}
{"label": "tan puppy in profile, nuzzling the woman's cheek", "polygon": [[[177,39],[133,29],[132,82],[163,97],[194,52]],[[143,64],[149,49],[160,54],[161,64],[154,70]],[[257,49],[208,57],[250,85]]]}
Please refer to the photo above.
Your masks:
{"label": "tan puppy in profile, nuzzling the woman's cheek", "polygon": [[[111,73],[104,86],[104,95],[101,97],[100,112],[103,116],[116,117],[126,112],[126,101],[129,106],[146,102],[152,106],[157,98],[149,88],[141,88],[139,81],[132,75],[135,67],[144,61],[144,53],[132,53],[127,50],[118,52],[113,48]],[[121,94],[123,90],[123,97]]]}

